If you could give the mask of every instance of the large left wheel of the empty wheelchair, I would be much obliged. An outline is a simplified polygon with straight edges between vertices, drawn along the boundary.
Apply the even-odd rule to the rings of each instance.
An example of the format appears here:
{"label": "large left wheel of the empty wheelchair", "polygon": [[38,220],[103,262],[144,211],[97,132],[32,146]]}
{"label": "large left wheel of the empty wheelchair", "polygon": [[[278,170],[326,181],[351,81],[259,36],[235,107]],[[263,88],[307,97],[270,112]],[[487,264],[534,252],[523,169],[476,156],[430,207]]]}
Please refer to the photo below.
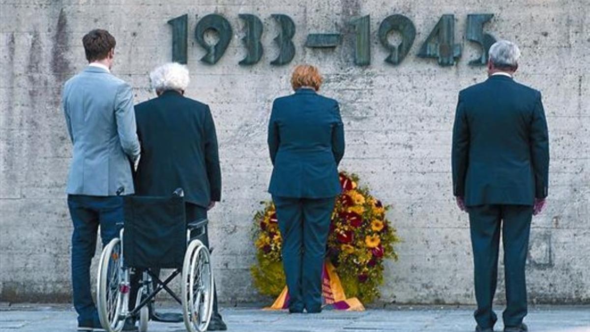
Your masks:
{"label": "large left wheel of the empty wheelchair", "polygon": [[129,305],[129,284],[123,271],[122,243],[115,238],[103,249],[99,262],[96,298],[100,324],[107,332],[123,329]]}

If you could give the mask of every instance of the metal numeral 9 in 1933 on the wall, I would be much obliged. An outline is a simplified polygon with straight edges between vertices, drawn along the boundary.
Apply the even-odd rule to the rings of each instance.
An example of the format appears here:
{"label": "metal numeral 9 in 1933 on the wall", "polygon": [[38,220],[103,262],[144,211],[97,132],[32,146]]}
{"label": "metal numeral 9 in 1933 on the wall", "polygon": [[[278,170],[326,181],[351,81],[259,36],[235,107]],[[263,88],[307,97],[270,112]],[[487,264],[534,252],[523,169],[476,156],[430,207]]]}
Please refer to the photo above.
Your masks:
{"label": "metal numeral 9 in 1933 on the wall", "polygon": [[[213,45],[205,41],[205,32],[213,30],[219,35],[219,40]],[[215,64],[225,53],[234,32],[231,29],[230,22],[218,14],[209,14],[196,24],[195,38],[196,42],[207,51],[207,54],[201,58],[201,61],[208,64]]]}

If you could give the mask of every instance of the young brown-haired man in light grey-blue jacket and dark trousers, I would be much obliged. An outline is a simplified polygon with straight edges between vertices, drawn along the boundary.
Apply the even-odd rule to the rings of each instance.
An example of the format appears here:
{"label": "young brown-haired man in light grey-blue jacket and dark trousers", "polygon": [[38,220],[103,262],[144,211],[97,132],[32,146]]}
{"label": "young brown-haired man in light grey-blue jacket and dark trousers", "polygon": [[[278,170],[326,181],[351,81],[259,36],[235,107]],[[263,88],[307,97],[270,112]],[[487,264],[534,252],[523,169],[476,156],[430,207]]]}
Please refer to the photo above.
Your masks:
{"label": "young brown-haired man in light grey-blue jacket and dark trousers", "polygon": [[131,86],[110,73],[116,41],[106,30],[82,39],[89,66],[65,82],[62,105],[74,145],[67,181],[72,235],[72,286],[78,331],[100,331],[90,294],[97,229],[103,246],[123,220],[120,195],[133,194],[131,168],[139,158]]}

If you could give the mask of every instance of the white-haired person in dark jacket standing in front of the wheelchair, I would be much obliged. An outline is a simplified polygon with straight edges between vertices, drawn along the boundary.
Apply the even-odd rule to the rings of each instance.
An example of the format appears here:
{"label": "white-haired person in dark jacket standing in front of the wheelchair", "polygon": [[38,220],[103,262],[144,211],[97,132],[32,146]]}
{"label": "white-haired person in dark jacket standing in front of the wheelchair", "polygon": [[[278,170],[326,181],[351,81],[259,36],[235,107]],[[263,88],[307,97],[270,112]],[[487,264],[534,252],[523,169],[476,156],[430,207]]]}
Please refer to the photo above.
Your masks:
{"label": "white-haired person in dark jacket standing in front of the wheelchair", "polygon": [[[211,110],[184,96],[189,72],[181,64],[157,67],[150,73],[150,81],[158,97],[135,106],[143,154],[134,177],[135,193],[166,196],[182,188],[186,222],[207,218],[207,211],[221,200],[221,170]],[[205,242],[208,246],[208,239]],[[182,315],[177,318],[182,321]],[[226,329],[215,292],[209,330]]]}

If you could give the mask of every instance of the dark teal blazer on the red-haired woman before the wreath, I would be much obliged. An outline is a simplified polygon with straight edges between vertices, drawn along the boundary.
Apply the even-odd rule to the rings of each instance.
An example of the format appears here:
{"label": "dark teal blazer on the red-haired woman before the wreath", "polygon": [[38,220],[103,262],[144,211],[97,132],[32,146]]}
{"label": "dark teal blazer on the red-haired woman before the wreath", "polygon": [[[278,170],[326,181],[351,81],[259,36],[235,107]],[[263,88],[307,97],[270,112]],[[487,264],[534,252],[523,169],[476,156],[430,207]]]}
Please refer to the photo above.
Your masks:
{"label": "dark teal blazer on the red-haired woman before the wreath", "polygon": [[268,150],[274,166],[268,192],[294,198],[337,196],[342,191],[337,167],[344,146],[336,100],[305,88],[277,98],[268,122]]}

